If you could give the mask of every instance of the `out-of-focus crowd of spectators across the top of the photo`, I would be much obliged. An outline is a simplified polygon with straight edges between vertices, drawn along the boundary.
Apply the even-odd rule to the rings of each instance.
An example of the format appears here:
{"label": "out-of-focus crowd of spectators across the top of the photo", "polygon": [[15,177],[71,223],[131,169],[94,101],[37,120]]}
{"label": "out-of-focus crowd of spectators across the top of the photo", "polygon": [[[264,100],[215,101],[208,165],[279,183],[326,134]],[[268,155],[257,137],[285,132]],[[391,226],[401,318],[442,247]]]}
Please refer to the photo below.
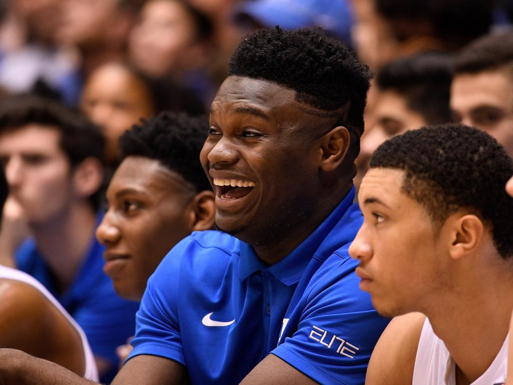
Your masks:
{"label": "out-of-focus crowd of spectators across the top of the photo", "polygon": [[[203,114],[240,38],[261,27],[319,26],[378,71],[419,52],[453,53],[508,28],[511,1],[487,0],[3,0],[0,90],[36,93],[117,138],[162,110]],[[374,125],[369,94],[367,129]],[[363,163],[365,160],[362,161]]]}

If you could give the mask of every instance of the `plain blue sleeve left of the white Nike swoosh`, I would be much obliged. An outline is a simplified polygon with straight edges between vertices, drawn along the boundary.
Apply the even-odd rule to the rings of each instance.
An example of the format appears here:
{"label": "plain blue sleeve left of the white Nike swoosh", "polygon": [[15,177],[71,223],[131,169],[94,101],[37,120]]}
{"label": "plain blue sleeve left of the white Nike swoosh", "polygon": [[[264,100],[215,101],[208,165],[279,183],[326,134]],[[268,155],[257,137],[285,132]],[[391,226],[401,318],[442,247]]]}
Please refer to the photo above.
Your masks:
{"label": "plain blue sleeve left of the white Nike swoosh", "polygon": [[[148,280],[136,315],[133,350],[128,359],[149,354],[185,365],[177,315],[180,258],[187,253],[188,238],[175,245]],[[127,359],[127,360],[128,360]]]}

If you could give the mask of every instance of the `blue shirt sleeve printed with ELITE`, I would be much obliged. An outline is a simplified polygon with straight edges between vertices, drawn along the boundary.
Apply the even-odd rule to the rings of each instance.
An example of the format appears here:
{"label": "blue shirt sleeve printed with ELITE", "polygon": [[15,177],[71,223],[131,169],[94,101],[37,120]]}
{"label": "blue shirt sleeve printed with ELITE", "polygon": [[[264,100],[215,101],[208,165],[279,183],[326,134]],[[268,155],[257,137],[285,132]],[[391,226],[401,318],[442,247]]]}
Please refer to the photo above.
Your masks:
{"label": "blue shirt sleeve printed with ELITE", "polygon": [[331,267],[309,290],[297,330],[271,353],[319,383],[363,384],[389,319],[360,290],[350,260]]}

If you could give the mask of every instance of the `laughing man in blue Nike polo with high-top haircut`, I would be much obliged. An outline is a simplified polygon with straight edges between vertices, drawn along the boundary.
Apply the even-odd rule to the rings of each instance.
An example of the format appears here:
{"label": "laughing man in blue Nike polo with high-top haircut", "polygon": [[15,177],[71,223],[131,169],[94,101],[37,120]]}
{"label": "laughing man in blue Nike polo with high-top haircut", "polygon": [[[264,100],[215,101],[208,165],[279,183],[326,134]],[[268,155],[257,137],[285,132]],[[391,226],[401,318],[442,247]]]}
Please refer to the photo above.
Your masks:
{"label": "laughing man in blue Nike polo with high-top haircut", "polygon": [[[157,267],[113,384],[364,382],[388,322],[348,255],[368,86],[367,68],[320,29],[242,40],[201,153],[222,232],[193,233]],[[89,383],[49,365],[0,350],[0,379]]]}

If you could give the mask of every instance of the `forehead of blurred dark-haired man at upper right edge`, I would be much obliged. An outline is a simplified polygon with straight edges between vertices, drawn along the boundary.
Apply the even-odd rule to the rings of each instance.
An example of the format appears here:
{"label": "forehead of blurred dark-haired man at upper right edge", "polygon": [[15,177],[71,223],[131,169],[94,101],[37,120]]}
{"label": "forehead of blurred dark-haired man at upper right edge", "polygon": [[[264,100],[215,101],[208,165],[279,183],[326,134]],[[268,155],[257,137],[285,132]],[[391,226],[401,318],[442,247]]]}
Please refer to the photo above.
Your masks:
{"label": "forehead of blurred dark-haired man at upper right edge", "polygon": [[450,104],[456,110],[482,105],[511,109],[513,80],[502,70],[456,75],[451,83]]}

